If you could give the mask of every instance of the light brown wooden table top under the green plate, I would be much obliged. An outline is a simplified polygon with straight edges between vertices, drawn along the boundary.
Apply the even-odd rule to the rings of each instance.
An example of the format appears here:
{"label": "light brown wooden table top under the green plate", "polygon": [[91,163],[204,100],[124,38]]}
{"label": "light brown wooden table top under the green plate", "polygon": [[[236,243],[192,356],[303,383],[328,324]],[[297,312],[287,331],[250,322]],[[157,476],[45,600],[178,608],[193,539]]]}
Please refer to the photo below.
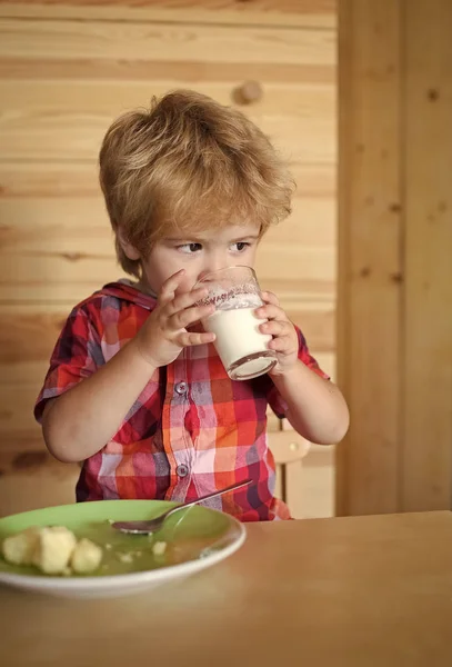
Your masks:
{"label": "light brown wooden table top under the green plate", "polygon": [[191,579],[113,600],[0,589],[4,667],[451,667],[452,514],[249,526]]}

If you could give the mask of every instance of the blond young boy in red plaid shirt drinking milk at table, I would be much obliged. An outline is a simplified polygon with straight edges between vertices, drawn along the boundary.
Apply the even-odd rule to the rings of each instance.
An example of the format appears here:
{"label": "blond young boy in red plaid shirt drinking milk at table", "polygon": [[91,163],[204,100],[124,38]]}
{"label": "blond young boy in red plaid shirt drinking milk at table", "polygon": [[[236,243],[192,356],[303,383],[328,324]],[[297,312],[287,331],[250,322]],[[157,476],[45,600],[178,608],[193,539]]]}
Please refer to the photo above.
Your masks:
{"label": "blond young boy in red plaid shirt drinking milk at table", "polygon": [[252,478],[210,506],[243,521],[290,518],[273,497],[267,406],[330,444],[346,431],[345,402],[270,292],[257,317],[278,365],[230,380],[199,326],[205,291],[193,289],[205,272],[253,266],[269,226],[290,213],[289,173],[242,113],[179,90],[112,123],[100,181],[137,281],[104,286],[69,316],[34,410],[47,447],[82,462],[79,501],[184,501]]}

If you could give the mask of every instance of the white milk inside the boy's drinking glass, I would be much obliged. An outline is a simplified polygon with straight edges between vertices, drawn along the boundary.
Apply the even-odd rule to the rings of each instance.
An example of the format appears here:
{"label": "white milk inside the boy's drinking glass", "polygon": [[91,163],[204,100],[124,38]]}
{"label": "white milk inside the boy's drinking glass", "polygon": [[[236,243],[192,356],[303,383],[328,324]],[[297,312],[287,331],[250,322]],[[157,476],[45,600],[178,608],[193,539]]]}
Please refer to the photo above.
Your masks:
{"label": "white milk inside the boy's drinking glass", "polygon": [[259,326],[265,320],[257,318],[254,310],[255,306],[215,310],[203,321],[204,329],[217,336],[214,346],[227,371],[240,359],[259,352],[268,355],[244,361],[240,367],[240,375],[243,377],[260,375],[272,366],[272,358],[269,359],[269,355],[273,356],[273,352],[267,347],[272,337],[259,330]]}

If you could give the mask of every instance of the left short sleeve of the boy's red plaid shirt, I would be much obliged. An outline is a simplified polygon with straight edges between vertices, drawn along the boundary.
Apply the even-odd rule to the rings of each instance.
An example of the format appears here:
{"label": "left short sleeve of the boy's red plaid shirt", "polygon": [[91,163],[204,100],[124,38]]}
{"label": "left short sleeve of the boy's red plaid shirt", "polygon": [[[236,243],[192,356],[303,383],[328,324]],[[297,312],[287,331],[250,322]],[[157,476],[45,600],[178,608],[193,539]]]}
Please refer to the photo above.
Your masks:
{"label": "left short sleeve of the boy's red plaid shirt", "polygon": [[61,396],[103,364],[93,317],[84,306],[77,306],[68,317],[50,358],[50,367],[34,406],[37,421],[41,422],[49,399]]}

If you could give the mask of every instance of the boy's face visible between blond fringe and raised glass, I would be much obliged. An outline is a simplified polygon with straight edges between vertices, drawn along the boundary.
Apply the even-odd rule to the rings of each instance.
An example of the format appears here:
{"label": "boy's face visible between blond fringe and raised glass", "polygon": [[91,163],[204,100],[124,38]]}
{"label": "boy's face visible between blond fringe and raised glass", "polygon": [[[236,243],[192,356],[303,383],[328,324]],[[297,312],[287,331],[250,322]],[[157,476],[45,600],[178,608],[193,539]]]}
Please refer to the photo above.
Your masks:
{"label": "boy's face visible between blond fringe and raised glass", "polygon": [[169,233],[155,242],[151,252],[142,259],[142,287],[155,295],[163,282],[180,269],[185,276],[178,291],[190,291],[202,276],[231,267],[253,267],[259,242],[260,226],[229,225],[221,229],[199,231],[181,237]]}

